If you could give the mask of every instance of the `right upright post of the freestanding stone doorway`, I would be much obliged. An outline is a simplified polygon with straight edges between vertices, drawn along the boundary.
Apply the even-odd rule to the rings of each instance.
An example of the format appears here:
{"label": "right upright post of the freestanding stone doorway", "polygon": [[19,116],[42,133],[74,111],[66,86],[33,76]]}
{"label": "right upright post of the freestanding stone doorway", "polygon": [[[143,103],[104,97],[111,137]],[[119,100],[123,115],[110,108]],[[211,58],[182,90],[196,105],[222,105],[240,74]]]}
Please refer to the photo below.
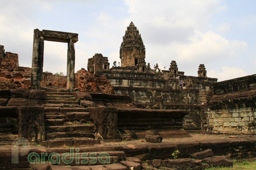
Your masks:
{"label": "right upright post of the freestanding stone doorway", "polygon": [[68,61],[67,61],[67,89],[71,92],[75,87],[75,45],[72,39],[68,43]]}

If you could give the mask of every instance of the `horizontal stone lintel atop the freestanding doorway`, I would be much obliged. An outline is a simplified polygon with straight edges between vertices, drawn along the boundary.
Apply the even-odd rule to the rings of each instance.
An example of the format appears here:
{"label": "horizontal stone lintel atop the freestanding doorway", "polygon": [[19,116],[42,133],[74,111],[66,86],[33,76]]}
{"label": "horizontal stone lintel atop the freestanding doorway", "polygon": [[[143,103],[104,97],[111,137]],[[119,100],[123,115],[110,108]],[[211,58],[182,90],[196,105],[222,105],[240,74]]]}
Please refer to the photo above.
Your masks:
{"label": "horizontal stone lintel atop the freestanding doorway", "polygon": [[52,30],[42,30],[44,40],[46,41],[55,41],[62,43],[69,43],[69,40],[72,39],[73,43],[78,41],[78,34],[70,32],[61,32],[61,31],[52,31]]}

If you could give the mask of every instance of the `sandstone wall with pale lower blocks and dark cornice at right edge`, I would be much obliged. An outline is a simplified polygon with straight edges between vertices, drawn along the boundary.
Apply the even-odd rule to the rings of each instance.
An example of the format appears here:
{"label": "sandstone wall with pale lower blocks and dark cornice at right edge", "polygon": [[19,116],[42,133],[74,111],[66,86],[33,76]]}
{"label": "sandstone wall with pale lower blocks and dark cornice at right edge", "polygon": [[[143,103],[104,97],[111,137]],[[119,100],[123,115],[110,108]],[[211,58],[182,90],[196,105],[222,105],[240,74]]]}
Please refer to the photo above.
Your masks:
{"label": "sandstone wall with pale lower blocks and dark cornice at right edge", "polygon": [[[202,114],[204,131],[256,132],[256,75],[218,82]],[[211,94],[209,94],[211,95]]]}

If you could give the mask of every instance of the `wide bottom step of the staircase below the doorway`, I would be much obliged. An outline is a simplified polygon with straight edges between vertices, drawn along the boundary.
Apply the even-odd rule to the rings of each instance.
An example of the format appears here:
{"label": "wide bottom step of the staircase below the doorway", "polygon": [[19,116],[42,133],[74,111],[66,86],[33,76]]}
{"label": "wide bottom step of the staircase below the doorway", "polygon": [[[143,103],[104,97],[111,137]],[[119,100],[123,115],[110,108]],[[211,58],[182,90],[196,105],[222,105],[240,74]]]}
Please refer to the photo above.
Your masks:
{"label": "wide bottom step of the staircase below the doorway", "polygon": [[95,144],[101,144],[100,140],[89,138],[56,138],[55,140],[42,141],[41,145],[50,148],[56,147],[87,147]]}

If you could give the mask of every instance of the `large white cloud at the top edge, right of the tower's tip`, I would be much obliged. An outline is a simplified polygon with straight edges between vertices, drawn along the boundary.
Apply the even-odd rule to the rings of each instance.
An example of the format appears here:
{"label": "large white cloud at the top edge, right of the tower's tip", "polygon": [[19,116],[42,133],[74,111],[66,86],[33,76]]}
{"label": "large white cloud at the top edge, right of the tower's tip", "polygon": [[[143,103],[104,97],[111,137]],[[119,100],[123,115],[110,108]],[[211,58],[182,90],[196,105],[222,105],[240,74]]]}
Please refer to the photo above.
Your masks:
{"label": "large white cloud at the top edge, right of the tower's tip", "polygon": [[186,42],[194,29],[206,30],[208,19],[223,10],[221,1],[126,0],[130,19],[150,43]]}

